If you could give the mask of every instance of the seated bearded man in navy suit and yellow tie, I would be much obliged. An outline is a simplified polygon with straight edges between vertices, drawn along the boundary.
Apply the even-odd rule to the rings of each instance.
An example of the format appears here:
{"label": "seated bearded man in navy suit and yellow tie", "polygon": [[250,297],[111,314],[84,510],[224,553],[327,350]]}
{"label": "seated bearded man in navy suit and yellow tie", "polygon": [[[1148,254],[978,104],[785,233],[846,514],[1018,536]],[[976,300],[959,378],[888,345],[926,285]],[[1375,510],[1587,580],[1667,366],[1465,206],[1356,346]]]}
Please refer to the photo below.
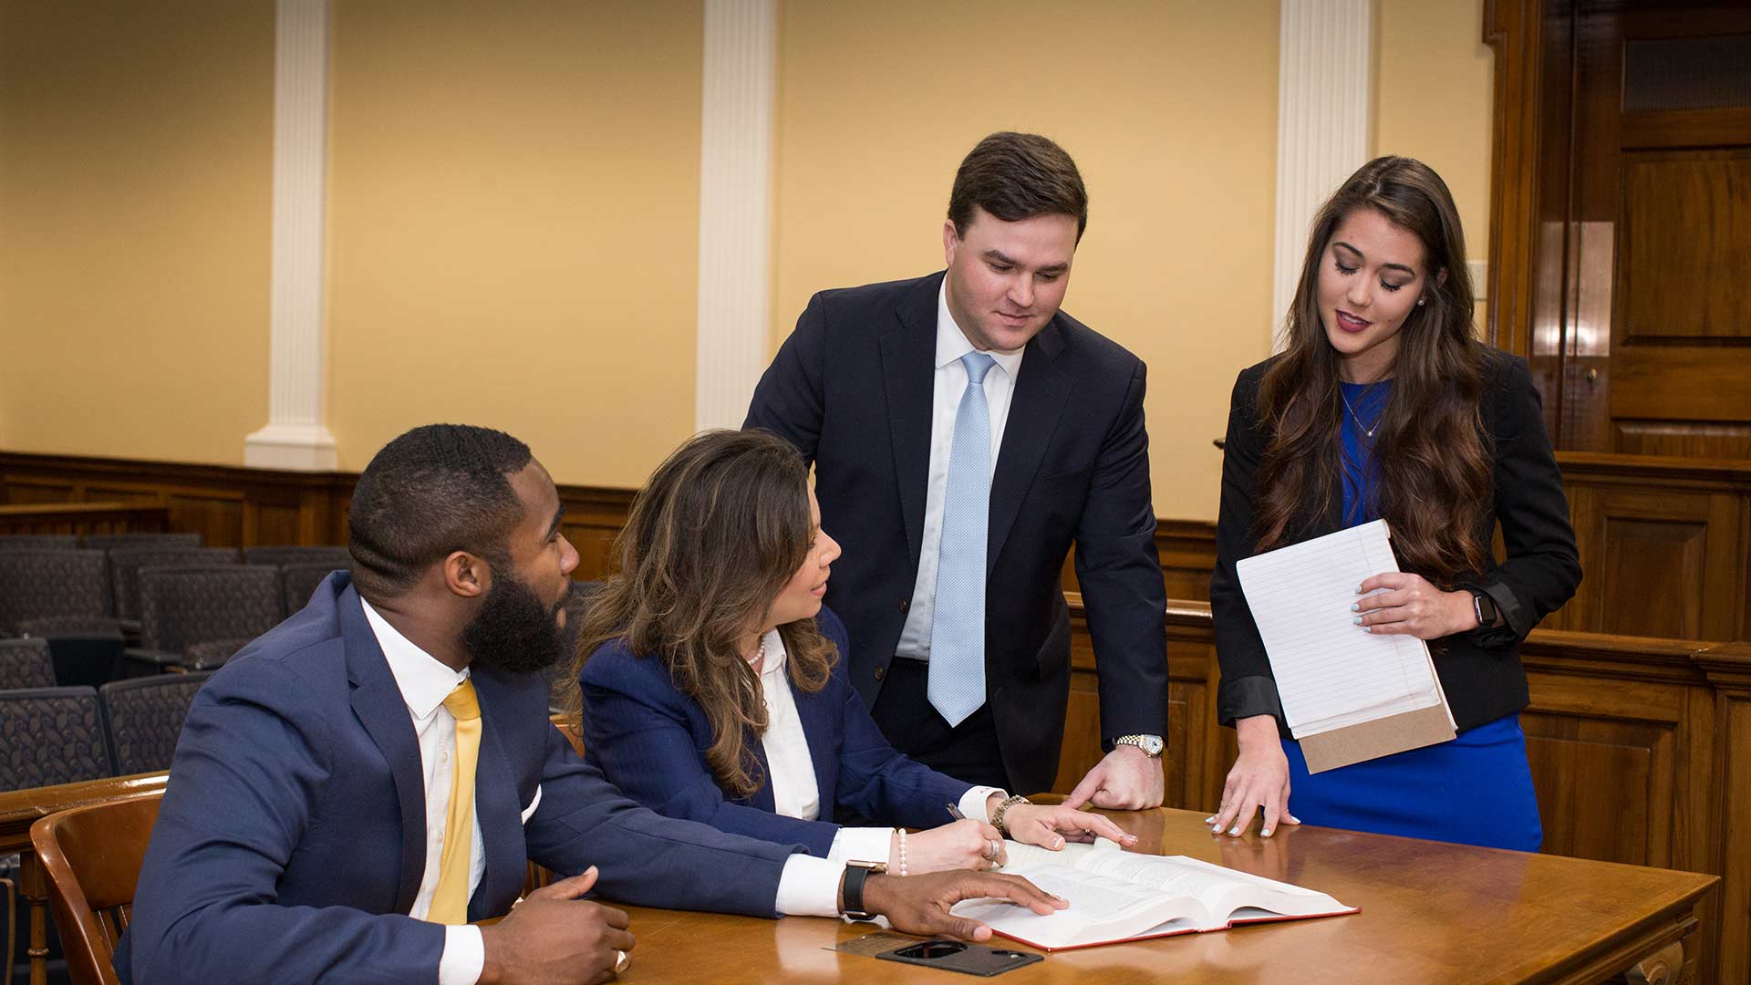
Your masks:
{"label": "seated bearded man in navy suit and yellow tie", "polygon": [[[888,878],[655,815],[548,722],[578,552],[529,447],[432,424],[366,466],[352,573],[256,640],[189,708],[116,948],[126,983],[606,981],[643,906],[881,911],[989,936],[947,908],[1016,876]],[[525,859],[569,875],[511,910]],[[508,913],[508,915],[506,915]],[[504,917],[492,927],[471,922]]]}

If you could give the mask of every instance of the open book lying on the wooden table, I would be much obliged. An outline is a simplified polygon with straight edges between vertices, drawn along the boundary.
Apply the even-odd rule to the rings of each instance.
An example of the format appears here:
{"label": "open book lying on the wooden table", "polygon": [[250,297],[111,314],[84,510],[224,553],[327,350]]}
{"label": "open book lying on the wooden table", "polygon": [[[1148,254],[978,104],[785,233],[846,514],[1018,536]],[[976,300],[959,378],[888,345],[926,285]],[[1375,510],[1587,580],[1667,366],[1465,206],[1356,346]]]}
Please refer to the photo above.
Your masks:
{"label": "open book lying on the wooden table", "polygon": [[954,906],[1005,938],[1040,950],[1086,948],[1143,938],[1226,931],[1238,924],[1355,913],[1324,892],[1185,855],[1121,852],[1112,841],[1063,852],[1005,843],[1005,873],[1026,876],[1070,901],[1040,917],[1023,906],[968,899]]}

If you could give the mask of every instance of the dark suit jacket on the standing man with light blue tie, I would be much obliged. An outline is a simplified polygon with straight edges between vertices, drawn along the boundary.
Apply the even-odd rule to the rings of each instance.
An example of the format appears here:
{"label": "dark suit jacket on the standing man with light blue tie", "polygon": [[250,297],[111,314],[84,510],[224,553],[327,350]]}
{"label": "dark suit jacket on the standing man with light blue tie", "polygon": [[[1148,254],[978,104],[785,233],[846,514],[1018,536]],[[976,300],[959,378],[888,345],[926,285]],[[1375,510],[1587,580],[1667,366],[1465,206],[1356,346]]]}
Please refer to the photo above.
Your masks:
{"label": "dark suit jacket on the standing man with light blue tie", "polygon": [[[918,580],[942,273],[821,291],[755,389],[748,428],[814,463],[821,522],[846,545],[828,582],[870,706]],[[991,480],[986,698],[1010,787],[1047,790],[1070,701],[1077,580],[1100,654],[1107,738],[1166,734],[1166,587],[1156,554],[1143,363],[1059,312],[1028,342]]]}

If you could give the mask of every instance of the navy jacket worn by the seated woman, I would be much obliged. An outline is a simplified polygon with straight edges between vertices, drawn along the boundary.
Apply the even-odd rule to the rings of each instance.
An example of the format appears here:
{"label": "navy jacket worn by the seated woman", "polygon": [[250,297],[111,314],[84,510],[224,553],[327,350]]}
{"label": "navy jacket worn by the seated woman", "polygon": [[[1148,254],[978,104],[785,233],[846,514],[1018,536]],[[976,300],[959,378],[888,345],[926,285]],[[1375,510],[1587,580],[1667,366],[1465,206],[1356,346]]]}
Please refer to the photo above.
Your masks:
{"label": "navy jacket worn by the seated woman", "polygon": [[[832,610],[818,617],[821,633],[846,654],[846,627]],[[641,657],[620,640],[602,643],[578,675],[583,687],[583,755],[641,804],[767,841],[800,841],[826,857],[839,826],[772,813],[765,747],[748,734],[760,761],[760,789],[730,797],[706,762],[716,736],[697,701],[681,694],[658,657]],[[821,815],[835,808],[879,824],[935,827],[953,820],[953,804],[972,789],[914,762],[888,745],[858,699],[846,663],[833,664],[826,685],[809,694],[790,685],[802,734],[809,740]]]}

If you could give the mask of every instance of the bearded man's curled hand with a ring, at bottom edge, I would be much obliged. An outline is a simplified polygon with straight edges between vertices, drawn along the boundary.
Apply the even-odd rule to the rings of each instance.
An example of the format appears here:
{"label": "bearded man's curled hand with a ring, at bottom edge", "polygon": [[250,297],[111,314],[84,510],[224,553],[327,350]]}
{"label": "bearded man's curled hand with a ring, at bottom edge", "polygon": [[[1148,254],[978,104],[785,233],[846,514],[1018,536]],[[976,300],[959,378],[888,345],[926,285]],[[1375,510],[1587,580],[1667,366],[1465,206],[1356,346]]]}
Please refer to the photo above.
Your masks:
{"label": "bearded man's curled hand with a ring, at bottom edge", "polygon": [[524,897],[496,925],[482,927],[482,985],[583,985],[615,976],[616,952],[632,950],[623,910],[578,899],[595,885],[595,866]]}

